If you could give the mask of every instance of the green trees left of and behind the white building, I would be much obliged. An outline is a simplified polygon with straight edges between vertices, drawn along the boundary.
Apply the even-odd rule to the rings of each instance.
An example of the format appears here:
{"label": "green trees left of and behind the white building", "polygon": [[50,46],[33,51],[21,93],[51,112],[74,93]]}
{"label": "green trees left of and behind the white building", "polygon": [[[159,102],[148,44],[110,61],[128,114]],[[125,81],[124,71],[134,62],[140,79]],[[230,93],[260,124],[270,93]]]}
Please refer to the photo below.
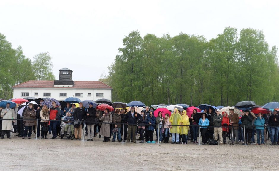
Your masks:
{"label": "green trees left of and behind the white building", "polygon": [[21,46],[13,49],[5,35],[0,33],[0,98],[12,98],[12,86],[25,81],[54,80],[51,59],[48,52],[43,52],[31,61],[24,56]]}

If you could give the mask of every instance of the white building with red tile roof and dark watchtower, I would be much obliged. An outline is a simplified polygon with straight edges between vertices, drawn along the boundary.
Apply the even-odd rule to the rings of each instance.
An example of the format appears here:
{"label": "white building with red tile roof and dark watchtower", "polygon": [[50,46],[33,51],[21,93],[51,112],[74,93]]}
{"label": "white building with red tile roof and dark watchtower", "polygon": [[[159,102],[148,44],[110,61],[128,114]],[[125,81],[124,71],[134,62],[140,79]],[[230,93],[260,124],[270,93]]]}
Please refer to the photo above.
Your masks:
{"label": "white building with red tile roof and dark watchtower", "polygon": [[77,97],[80,100],[94,100],[106,98],[111,100],[112,87],[101,81],[72,81],[72,70],[59,70],[59,80],[55,81],[27,81],[13,86],[13,98],[23,97],[51,97],[64,100],[67,97]]}

